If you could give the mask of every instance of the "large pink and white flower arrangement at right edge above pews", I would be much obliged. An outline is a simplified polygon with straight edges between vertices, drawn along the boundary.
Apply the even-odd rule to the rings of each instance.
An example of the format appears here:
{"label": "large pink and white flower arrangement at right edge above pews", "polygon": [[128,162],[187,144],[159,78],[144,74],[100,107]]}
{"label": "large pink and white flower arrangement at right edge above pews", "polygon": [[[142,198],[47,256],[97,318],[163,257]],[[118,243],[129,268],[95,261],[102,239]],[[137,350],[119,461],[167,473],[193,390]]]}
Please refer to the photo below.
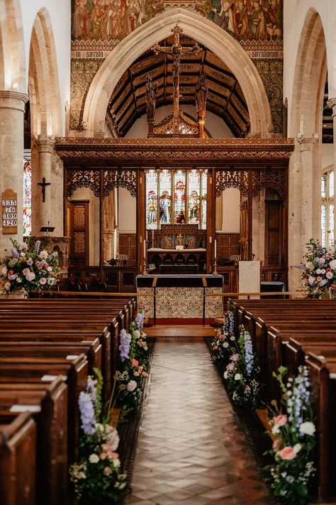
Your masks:
{"label": "large pink and white flower arrangement at right edge above pews", "polygon": [[323,292],[336,290],[335,244],[323,247],[318,240],[310,239],[306,246],[306,263],[300,266],[303,288],[308,291],[308,298],[320,298]]}

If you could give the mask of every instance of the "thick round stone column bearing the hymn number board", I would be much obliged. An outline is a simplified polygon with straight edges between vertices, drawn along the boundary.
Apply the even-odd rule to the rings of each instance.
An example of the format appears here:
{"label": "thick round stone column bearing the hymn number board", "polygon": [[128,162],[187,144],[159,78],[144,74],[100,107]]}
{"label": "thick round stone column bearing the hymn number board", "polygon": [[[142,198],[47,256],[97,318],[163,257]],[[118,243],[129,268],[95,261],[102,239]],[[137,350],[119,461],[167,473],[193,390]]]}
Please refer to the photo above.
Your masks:
{"label": "thick round stone column bearing the hymn number board", "polygon": [[0,90],[0,188],[18,195],[18,233],[4,235],[0,221],[0,256],[8,254],[10,238],[22,241],[23,233],[23,114],[28,95]]}

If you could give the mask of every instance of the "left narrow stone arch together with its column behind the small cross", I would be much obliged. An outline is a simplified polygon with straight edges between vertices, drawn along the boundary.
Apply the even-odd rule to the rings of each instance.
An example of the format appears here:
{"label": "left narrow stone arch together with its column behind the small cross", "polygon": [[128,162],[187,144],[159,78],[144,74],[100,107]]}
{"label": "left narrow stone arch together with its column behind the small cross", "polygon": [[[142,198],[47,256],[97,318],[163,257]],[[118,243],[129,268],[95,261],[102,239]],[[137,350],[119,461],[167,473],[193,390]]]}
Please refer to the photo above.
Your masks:
{"label": "left narrow stone arch together with its column behind the small cross", "polygon": [[[62,235],[62,204],[55,202],[62,202],[63,177],[54,151],[55,136],[62,134],[60,82],[52,25],[44,7],[38,11],[33,23],[28,92],[32,138],[32,232],[38,234],[40,227],[49,222],[56,228],[56,233]],[[46,189],[45,202],[38,186],[43,178],[51,183]]]}

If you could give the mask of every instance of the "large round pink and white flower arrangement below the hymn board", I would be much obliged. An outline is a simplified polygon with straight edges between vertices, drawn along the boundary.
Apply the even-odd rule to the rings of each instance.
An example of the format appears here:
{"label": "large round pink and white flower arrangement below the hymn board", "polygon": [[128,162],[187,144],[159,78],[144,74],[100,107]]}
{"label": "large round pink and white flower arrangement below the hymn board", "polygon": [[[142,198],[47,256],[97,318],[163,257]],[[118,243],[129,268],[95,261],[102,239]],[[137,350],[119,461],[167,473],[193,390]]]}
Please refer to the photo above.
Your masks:
{"label": "large round pink and white flower arrangement below the hymn board", "polygon": [[11,239],[11,256],[2,260],[0,280],[6,294],[23,289],[52,290],[57,286],[57,252],[41,248],[40,240],[33,238],[23,244]]}

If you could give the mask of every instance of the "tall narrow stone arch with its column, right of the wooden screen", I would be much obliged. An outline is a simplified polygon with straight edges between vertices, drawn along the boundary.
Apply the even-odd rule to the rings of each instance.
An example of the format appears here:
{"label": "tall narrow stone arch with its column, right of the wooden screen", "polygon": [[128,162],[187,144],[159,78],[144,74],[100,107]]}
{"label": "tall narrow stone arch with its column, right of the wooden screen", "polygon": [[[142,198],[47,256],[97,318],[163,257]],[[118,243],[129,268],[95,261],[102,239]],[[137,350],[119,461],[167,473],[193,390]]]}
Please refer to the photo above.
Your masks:
{"label": "tall narrow stone arch with its column, right of the wooden screen", "polygon": [[[296,149],[289,165],[289,266],[303,261],[310,238],[320,238],[320,177],[323,94],[327,72],[320,15],[309,9],[303,23],[293,78],[289,136]],[[300,272],[289,272],[289,288],[301,287]]]}

